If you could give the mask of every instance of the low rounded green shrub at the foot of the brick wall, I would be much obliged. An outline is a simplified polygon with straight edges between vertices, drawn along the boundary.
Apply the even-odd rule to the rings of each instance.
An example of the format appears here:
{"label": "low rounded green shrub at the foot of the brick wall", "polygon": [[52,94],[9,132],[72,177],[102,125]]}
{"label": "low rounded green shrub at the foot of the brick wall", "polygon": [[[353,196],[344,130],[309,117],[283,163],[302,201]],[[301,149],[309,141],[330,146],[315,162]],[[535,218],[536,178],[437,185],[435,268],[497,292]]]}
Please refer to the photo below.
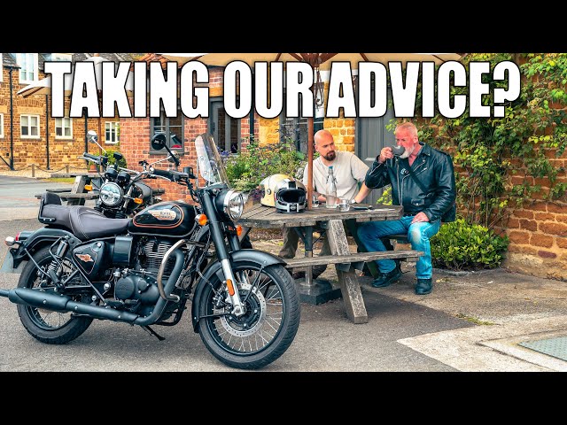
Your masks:
{"label": "low rounded green shrub at the foot of the brick wall", "polygon": [[499,267],[508,244],[508,236],[498,236],[488,228],[458,219],[441,226],[431,238],[432,264],[451,270]]}

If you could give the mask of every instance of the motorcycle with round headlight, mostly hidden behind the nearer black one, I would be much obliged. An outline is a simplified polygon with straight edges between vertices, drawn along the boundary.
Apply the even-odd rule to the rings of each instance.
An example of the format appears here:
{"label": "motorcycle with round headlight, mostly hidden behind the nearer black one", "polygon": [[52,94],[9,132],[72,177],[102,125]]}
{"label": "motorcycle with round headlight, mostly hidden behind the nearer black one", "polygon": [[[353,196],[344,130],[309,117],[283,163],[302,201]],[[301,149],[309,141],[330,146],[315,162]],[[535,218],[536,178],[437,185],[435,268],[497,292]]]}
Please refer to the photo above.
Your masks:
{"label": "motorcycle with round headlight, mostly hidden behind the nearer black one", "polygon": [[[97,132],[89,130],[87,138],[90,143],[95,143],[102,151],[105,151],[105,148],[98,144]],[[163,190],[151,189],[150,186],[141,182],[142,179],[152,178],[151,166],[163,161],[170,161],[175,166],[179,166],[179,154],[177,152],[173,152],[167,158],[160,159],[152,164],[149,164],[146,160],[140,161],[138,165],[143,168],[141,172],[118,166],[123,158],[120,152],[113,152],[114,164],[110,165],[108,164],[108,157],[105,155],[96,156],[85,152],[78,158],[95,164],[99,169],[100,179],[97,179],[98,184],[90,185],[89,189],[98,192],[95,209],[111,219],[133,217],[136,213],[144,210],[146,206],[158,204],[161,201],[159,193],[163,193]]]}

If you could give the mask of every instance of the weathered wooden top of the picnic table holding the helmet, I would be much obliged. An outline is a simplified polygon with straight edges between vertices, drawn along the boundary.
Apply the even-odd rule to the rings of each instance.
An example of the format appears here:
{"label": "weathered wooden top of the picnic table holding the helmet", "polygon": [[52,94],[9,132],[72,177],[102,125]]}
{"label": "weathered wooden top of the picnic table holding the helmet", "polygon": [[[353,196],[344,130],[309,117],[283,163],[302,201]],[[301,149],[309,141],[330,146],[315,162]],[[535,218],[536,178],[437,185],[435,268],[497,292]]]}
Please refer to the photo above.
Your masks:
{"label": "weathered wooden top of the picnic table holding the helmet", "polygon": [[345,212],[321,205],[302,213],[278,213],[274,207],[257,204],[245,210],[237,224],[248,228],[300,228],[329,220],[400,220],[402,214],[403,207],[398,205],[372,205],[370,210],[355,210],[351,207]]}

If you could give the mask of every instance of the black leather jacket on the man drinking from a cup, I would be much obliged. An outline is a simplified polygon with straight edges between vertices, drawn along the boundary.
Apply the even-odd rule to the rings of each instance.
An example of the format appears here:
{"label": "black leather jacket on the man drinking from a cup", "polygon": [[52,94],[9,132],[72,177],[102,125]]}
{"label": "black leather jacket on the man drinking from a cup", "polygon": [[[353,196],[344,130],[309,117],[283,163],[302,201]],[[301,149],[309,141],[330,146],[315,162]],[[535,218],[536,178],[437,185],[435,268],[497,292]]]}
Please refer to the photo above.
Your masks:
{"label": "black leather jacket on the man drinking from a cup", "polygon": [[416,184],[408,173],[408,160],[398,157],[388,159],[384,164],[374,164],[366,174],[366,185],[379,189],[392,185],[392,204],[402,205],[404,214],[425,213],[430,221],[439,220],[454,204],[456,189],[454,185],[453,161],[447,153],[437,151],[420,142],[421,151],[417,154],[412,170],[416,178],[427,189],[426,193]]}

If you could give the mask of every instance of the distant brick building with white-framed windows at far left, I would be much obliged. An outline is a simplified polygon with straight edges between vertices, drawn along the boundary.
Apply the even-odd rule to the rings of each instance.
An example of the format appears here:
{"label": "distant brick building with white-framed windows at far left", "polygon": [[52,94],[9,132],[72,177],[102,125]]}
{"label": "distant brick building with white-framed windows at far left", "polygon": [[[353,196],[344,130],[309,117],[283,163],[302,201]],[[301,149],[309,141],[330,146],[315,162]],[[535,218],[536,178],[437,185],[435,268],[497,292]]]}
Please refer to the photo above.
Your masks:
{"label": "distant brick building with white-framed windows at far left", "polygon": [[[118,118],[58,118],[50,114],[46,95],[22,97],[19,89],[45,78],[46,61],[78,61],[93,53],[0,53],[0,169],[20,170],[35,164],[58,170],[65,166],[85,167],[77,159],[84,151],[98,153],[86,144],[86,130],[95,130],[107,146],[120,142]],[[101,53],[114,62],[131,61],[134,54]],[[70,100],[65,101],[68,115]]]}

